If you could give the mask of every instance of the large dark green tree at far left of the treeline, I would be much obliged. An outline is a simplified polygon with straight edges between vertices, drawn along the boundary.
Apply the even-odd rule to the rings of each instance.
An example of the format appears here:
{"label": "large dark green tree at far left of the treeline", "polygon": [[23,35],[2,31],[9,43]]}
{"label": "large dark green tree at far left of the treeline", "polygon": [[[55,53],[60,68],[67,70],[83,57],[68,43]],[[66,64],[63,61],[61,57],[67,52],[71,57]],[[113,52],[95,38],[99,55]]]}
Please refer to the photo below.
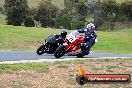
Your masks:
{"label": "large dark green tree at far left of the treeline", "polygon": [[4,8],[7,15],[7,24],[20,26],[26,18],[27,0],[5,0]]}

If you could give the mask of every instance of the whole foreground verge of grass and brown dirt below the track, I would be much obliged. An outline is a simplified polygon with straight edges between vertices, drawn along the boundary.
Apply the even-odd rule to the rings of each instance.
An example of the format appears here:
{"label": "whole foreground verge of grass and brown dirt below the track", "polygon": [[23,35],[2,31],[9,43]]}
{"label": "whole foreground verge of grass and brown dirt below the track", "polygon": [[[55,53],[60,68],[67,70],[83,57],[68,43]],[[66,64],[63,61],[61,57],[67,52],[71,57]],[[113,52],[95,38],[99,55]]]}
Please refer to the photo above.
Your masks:
{"label": "whole foreground verge of grass and brown dirt below the track", "polygon": [[[130,84],[86,84],[76,83],[77,68],[82,66],[89,74],[130,74],[132,58],[87,59],[61,62],[25,63],[1,65],[1,88],[131,88]],[[51,84],[52,83],[52,84]]]}

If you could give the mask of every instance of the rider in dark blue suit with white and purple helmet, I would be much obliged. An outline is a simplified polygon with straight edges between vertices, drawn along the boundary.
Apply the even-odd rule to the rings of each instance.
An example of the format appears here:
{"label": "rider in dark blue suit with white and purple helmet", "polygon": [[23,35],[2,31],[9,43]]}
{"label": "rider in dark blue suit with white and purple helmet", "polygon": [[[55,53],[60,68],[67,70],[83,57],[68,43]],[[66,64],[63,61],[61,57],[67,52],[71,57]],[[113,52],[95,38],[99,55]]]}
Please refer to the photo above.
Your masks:
{"label": "rider in dark blue suit with white and purple helmet", "polygon": [[82,47],[83,54],[88,55],[90,48],[95,44],[95,39],[97,37],[95,26],[93,23],[89,23],[86,29],[79,29],[78,32],[85,33],[85,43],[81,43],[80,46]]}

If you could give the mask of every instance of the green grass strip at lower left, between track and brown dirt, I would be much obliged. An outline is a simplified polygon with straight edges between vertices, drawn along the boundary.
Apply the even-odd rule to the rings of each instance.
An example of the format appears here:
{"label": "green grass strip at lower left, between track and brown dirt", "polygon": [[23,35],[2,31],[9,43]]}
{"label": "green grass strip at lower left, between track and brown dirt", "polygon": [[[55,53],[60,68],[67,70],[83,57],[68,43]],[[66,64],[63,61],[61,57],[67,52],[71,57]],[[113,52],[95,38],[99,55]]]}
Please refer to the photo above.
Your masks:
{"label": "green grass strip at lower left, between track and brown dirt", "polygon": [[51,63],[23,63],[23,64],[11,64],[0,65],[0,73],[11,73],[13,71],[20,70],[36,70],[37,72],[47,72]]}

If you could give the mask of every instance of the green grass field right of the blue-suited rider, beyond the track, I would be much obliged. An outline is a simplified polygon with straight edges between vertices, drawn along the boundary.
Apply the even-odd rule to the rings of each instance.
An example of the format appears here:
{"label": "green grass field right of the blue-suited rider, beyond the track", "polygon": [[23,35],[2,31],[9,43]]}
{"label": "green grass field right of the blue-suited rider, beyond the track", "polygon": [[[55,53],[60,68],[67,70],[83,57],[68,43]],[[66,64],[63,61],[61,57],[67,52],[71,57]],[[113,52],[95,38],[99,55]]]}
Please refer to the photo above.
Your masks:
{"label": "green grass field right of the blue-suited rider, beyond the track", "polygon": [[132,53],[132,29],[115,32],[97,32],[96,52]]}

